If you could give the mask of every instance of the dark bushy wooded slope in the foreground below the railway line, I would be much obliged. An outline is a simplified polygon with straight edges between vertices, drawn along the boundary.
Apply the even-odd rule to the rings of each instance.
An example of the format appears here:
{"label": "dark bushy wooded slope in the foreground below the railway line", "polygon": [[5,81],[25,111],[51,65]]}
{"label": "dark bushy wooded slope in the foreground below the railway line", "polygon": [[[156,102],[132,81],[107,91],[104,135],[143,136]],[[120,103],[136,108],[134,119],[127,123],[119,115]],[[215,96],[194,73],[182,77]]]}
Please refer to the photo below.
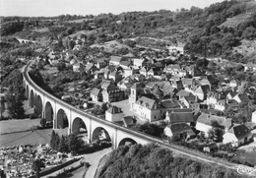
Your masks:
{"label": "dark bushy wooded slope in the foreground below the railway line", "polygon": [[244,178],[235,171],[177,156],[155,145],[133,145],[113,150],[99,178]]}

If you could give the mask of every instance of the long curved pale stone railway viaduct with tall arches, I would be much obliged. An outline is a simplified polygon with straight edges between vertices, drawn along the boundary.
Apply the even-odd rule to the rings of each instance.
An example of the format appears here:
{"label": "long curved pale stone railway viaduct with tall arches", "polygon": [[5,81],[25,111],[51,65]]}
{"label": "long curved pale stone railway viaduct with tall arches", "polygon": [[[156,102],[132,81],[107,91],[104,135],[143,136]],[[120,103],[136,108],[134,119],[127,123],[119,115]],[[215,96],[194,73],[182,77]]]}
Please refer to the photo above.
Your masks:
{"label": "long curved pale stone railway viaduct with tall arches", "polygon": [[142,145],[161,142],[143,133],[99,119],[53,96],[32,81],[29,69],[30,63],[24,70],[24,87],[29,98],[29,106],[34,108],[35,114],[41,115],[46,121],[52,121],[53,129],[68,127],[68,134],[79,133],[83,121],[91,142],[103,137],[111,141],[112,148],[123,146],[126,142]]}

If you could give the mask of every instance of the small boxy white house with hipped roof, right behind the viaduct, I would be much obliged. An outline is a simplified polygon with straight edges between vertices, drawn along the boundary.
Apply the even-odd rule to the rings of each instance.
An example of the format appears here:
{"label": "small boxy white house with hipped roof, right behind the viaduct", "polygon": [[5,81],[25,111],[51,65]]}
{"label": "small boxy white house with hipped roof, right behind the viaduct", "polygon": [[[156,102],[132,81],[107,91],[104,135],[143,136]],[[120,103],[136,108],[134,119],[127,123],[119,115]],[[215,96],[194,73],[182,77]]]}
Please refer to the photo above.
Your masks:
{"label": "small boxy white house with hipped roof, right behind the viaduct", "polygon": [[109,122],[121,121],[123,117],[123,111],[117,106],[111,106],[105,111],[105,120]]}

